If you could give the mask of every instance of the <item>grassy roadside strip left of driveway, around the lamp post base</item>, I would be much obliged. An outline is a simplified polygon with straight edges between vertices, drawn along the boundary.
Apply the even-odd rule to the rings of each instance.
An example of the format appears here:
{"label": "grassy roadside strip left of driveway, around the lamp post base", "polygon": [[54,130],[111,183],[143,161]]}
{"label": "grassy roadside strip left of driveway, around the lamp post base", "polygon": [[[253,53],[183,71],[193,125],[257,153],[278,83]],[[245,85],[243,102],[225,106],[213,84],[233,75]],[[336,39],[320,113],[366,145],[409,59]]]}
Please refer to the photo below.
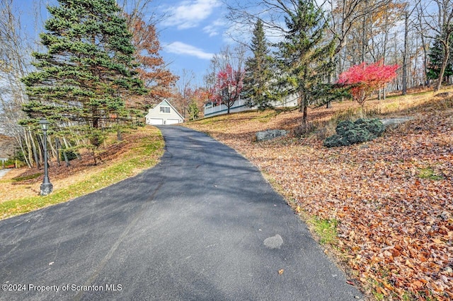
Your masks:
{"label": "grassy roadside strip left of driveway, around the lamp post base", "polygon": [[8,172],[0,179],[0,219],[108,187],[153,167],[164,153],[160,131],[149,126],[124,134],[121,142],[110,138],[106,144],[100,153],[103,163],[99,165],[92,165],[89,155],[84,155],[83,161],[71,161],[71,167],[64,167],[64,163],[57,166],[52,162],[49,175],[54,191],[48,196],[38,196],[42,171],[20,169]]}

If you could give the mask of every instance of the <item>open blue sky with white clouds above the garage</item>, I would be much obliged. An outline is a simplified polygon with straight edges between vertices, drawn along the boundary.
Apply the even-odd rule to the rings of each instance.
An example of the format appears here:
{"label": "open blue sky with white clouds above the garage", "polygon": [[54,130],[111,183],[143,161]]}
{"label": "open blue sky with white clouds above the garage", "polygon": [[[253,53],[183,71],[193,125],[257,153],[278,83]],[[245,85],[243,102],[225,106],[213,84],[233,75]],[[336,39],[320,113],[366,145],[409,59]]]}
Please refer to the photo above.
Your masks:
{"label": "open blue sky with white clouds above the garage", "polygon": [[[122,1],[127,0],[117,0],[118,3]],[[49,18],[45,9],[47,4],[56,5],[57,0],[13,0],[22,23],[29,32],[35,33],[35,37],[42,31],[42,28],[38,32],[33,30],[35,14],[40,11],[42,20]],[[222,0],[151,0],[147,11],[156,16],[166,15],[157,24],[157,29],[161,55],[168,69],[179,76],[183,69],[193,71],[194,84],[202,85],[212,56],[232,42],[225,33],[227,11]],[[42,23],[38,25],[42,26]]]}

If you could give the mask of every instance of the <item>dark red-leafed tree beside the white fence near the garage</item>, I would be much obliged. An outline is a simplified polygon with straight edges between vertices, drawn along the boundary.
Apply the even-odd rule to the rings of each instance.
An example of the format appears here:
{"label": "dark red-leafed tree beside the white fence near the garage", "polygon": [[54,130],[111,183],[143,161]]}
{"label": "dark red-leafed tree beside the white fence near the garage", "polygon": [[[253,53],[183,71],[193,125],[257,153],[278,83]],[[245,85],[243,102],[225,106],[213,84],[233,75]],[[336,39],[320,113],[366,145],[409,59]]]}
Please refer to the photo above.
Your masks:
{"label": "dark red-leafed tree beside the white fence near the garage", "polygon": [[243,70],[234,70],[230,64],[226,64],[225,68],[217,73],[214,88],[210,93],[210,100],[226,105],[228,114],[231,106],[241,95],[243,76]]}

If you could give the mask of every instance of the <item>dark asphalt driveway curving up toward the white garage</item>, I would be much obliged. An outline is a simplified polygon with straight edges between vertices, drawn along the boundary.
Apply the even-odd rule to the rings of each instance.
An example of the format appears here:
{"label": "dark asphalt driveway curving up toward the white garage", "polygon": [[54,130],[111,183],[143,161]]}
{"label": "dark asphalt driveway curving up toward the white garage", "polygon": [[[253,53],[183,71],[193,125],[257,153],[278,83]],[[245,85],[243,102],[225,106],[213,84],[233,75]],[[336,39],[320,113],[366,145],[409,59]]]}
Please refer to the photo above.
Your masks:
{"label": "dark asphalt driveway curving up toward the white garage", "polygon": [[0,222],[0,283],[19,290],[0,300],[362,298],[256,167],[205,134],[161,130],[151,170]]}

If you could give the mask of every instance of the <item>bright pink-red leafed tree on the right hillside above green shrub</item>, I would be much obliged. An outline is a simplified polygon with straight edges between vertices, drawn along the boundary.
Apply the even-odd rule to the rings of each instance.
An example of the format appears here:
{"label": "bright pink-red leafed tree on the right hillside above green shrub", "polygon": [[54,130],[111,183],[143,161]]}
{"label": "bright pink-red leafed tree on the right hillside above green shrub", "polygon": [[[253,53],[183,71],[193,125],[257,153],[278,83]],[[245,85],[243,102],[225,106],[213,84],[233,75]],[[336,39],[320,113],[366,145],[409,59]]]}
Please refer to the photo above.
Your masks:
{"label": "bright pink-red leafed tree on the right hillside above green shrub", "polygon": [[349,85],[352,98],[363,107],[374,90],[384,88],[386,83],[396,78],[397,69],[398,65],[384,65],[382,60],[374,64],[363,62],[341,73],[338,83]]}

